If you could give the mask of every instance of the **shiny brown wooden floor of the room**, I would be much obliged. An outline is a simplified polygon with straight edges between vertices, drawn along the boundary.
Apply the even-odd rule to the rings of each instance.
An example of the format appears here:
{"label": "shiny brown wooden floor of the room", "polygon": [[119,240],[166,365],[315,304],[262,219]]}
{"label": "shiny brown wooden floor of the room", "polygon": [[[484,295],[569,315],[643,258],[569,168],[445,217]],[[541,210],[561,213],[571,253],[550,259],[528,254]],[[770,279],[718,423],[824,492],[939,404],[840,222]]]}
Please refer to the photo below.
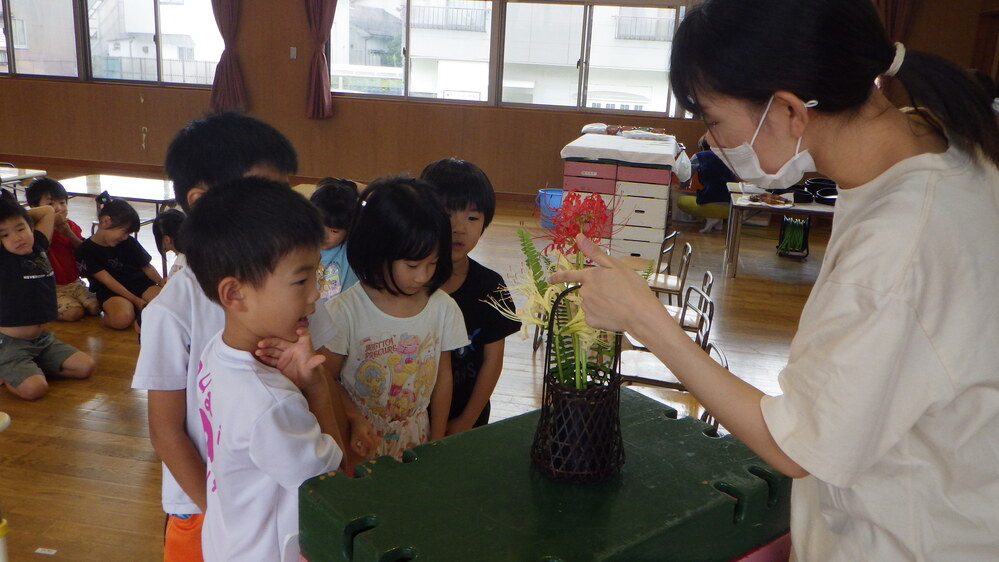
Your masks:
{"label": "shiny brown wooden floor of the room", "polygon": [[[60,177],[60,176],[57,176]],[[152,209],[137,206],[140,216]],[[516,230],[537,229],[532,209],[501,204],[472,256],[508,280],[520,271]],[[90,200],[73,200],[70,217],[87,230]],[[775,227],[745,227],[739,277],[721,277],[724,233],[702,235],[699,225],[678,224],[694,247],[688,282],[704,270],[716,274],[717,312],[712,340],[728,354],[731,370],[768,393],[779,393],[777,373],[808,292],[818,273],[828,229],[813,229],[813,257],[806,261],[775,255]],[[140,241],[155,256],[148,228]],[[155,263],[155,262],[154,262]],[[52,383],[42,400],[27,403],[0,390],[0,411],[11,415],[0,433],[0,512],[10,525],[8,550],[15,561],[52,549],[62,560],[156,560],[161,557],[160,464],[146,428],[146,396],[130,387],[138,342],[131,331],[114,332],[96,318],[50,326],[63,341],[97,359],[87,381]],[[648,354],[640,374],[661,369]],[[536,408],[540,400],[538,361],[529,340],[507,341],[503,375],[493,396],[493,420]],[[697,403],[678,392],[645,389],[697,413]],[[525,459],[525,462],[528,462]],[[44,557],[41,557],[44,559]]]}

